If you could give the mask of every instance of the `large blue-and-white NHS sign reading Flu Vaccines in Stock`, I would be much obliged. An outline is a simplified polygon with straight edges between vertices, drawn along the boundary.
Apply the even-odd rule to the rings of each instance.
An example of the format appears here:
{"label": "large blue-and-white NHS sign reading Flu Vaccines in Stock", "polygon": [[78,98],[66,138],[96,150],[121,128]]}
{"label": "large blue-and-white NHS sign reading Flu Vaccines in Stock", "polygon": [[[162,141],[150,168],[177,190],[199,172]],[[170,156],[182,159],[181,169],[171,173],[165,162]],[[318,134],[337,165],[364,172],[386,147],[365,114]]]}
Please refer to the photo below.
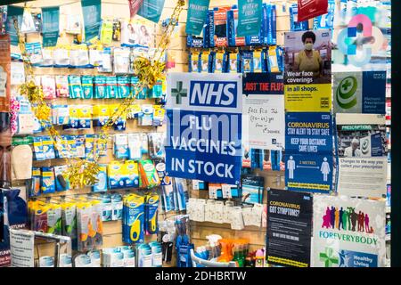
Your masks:
{"label": "large blue-and-white NHS sign reading Flu Vaccines in Stock", "polygon": [[241,96],[239,74],[168,74],[169,176],[240,182]]}

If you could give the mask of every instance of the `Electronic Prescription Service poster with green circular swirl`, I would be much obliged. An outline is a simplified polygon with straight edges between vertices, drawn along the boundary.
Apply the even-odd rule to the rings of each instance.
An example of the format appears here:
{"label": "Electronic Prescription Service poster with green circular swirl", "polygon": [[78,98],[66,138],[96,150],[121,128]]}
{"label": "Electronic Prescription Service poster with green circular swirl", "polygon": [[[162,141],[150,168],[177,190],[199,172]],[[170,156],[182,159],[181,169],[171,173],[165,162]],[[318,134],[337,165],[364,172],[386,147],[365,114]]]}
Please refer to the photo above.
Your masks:
{"label": "Electronic Prescription Service poster with green circular swirl", "polygon": [[386,113],[386,71],[333,72],[335,113]]}

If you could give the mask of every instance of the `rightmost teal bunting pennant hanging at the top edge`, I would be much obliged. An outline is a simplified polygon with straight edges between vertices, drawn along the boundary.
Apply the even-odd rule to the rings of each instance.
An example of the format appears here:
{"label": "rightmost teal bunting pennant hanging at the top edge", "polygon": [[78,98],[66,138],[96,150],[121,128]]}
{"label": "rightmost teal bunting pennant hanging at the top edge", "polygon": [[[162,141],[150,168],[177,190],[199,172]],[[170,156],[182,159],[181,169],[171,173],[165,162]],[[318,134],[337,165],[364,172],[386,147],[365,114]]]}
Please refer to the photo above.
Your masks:
{"label": "rightmost teal bunting pennant hanging at the top edge", "polygon": [[238,37],[260,33],[262,0],[238,0]]}

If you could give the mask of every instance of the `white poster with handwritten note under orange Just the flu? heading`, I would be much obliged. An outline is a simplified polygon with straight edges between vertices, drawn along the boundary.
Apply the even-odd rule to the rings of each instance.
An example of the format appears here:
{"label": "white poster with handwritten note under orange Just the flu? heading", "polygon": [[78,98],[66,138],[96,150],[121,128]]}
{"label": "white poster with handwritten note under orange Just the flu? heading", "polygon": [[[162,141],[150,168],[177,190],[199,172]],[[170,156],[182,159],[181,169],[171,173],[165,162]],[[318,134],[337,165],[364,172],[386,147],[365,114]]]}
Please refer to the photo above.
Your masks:
{"label": "white poster with handwritten note under orange Just the flu? heading", "polygon": [[252,149],[284,148],[284,94],[280,73],[247,73],[242,81],[242,142]]}

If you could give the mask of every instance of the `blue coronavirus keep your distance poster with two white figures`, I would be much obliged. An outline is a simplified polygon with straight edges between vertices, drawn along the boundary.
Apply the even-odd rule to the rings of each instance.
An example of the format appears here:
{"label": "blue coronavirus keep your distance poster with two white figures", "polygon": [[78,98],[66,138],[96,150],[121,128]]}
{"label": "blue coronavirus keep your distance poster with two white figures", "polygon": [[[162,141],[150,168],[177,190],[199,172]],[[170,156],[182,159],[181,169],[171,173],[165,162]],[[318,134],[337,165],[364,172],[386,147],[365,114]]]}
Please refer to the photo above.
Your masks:
{"label": "blue coronavirus keep your distance poster with two white figures", "polygon": [[285,181],[289,190],[328,193],[333,155],[330,113],[285,115]]}

